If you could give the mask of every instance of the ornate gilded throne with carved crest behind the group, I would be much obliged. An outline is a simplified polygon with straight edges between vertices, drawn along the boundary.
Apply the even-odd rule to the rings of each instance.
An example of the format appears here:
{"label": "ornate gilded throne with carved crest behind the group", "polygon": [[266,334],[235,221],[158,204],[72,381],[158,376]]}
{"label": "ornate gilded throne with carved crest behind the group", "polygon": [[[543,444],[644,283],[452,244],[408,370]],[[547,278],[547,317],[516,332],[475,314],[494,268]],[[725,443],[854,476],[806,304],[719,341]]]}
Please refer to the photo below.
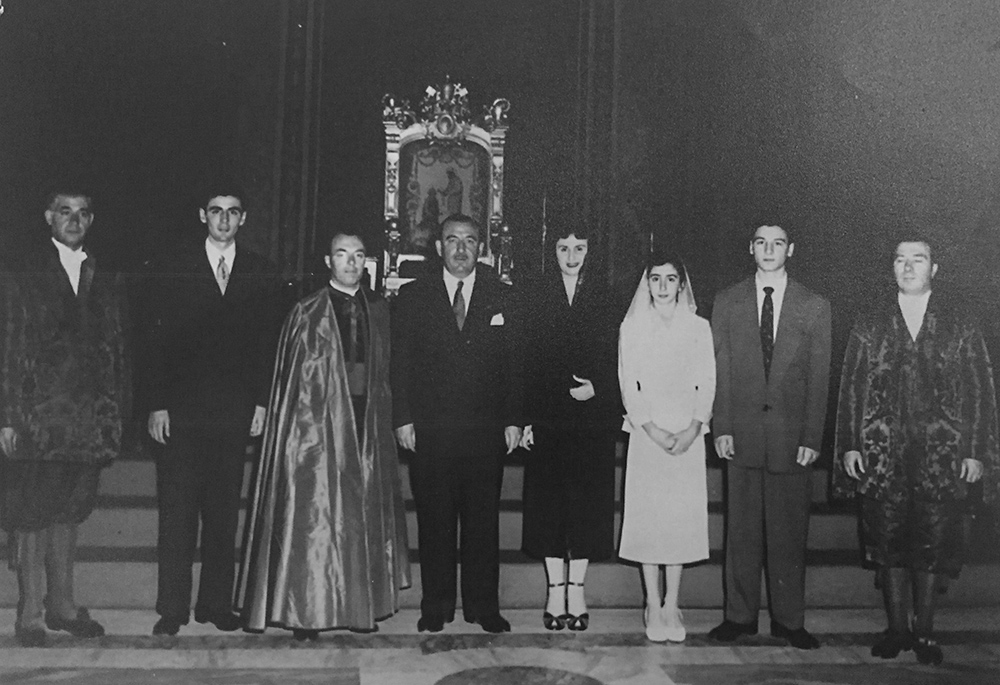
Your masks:
{"label": "ornate gilded throne with carved crest behind the group", "polygon": [[436,254],[441,221],[466,214],[484,229],[479,260],[510,282],[511,235],[503,219],[503,155],[510,103],[498,98],[479,116],[450,78],[428,86],[414,110],[386,95],[383,290],[393,295]]}

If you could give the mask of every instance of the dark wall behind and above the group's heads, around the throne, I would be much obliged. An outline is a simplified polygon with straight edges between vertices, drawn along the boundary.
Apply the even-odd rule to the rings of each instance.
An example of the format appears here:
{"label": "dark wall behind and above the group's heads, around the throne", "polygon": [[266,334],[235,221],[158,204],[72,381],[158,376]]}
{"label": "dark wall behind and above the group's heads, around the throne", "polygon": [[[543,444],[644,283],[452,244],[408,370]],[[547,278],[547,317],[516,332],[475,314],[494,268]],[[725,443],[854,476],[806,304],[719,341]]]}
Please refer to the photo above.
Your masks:
{"label": "dark wall behind and above the group's heads, around the throne", "polygon": [[[231,173],[251,191],[241,237],[275,253],[277,0],[4,6],[0,249],[45,234],[46,188],[70,176],[95,193],[95,249],[132,268],[199,238],[192,195]],[[594,29],[587,12],[611,19]],[[350,225],[381,247],[381,97],[416,102],[450,75],[474,111],[512,103],[505,214],[517,274],[536,269],[542,198],[575,211],[579,77],[595,35],[617,46],[588,96],[604,83],[616,107],[594,133],[611,152],[590,159],[610,170],[616,287],[633,286],[652,233],[686,256],[707,314],[751,272],[752,228],[784,223],[793,275],[833,302],[836,366],[858,307],[891,292],[892,239],[912,227],[935,243],[940,284],[980,308],[997,356],[994,0],[328,2],[318,235]]]}

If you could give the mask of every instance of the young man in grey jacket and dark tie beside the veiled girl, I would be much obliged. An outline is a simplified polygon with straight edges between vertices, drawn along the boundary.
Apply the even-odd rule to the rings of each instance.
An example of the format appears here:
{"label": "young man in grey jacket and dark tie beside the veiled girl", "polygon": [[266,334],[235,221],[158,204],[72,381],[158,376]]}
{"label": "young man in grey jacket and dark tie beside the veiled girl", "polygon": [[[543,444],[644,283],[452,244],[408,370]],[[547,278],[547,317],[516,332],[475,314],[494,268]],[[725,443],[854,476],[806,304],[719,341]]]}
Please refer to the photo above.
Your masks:
{"label": "young man in grey jacket and dark tie beside the veiled girl", "polygon": [[757,632],[766,550],[771,634],[814,649],[804,624],[808,467],[826,418],[830,303],[788,277],[794,248],[782,227],[760,226],[750,241],[757,274],[720,293],[712,311],[712,430],[729,464],[725,620],[709,637]]}

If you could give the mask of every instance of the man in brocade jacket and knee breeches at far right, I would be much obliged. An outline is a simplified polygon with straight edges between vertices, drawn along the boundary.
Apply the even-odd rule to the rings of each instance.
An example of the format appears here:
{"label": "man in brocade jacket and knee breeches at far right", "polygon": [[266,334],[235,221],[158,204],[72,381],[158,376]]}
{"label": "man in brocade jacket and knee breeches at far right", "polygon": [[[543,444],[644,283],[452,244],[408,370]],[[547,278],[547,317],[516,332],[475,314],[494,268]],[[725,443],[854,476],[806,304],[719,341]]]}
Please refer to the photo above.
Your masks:
{"label": "man in brocade jacket and knee breeches at far right", "polygon": [[837,412],[835,495],[857,493],[866,560],[889,627],[872,656],[913,649],[941,663],[933,639],[942,576],[964,558],[972,484],[1000,496],[997,408],[982,331],[958,298],[931,289],[930,243],[896,246],[898,294],[862,316],[844,357]]}

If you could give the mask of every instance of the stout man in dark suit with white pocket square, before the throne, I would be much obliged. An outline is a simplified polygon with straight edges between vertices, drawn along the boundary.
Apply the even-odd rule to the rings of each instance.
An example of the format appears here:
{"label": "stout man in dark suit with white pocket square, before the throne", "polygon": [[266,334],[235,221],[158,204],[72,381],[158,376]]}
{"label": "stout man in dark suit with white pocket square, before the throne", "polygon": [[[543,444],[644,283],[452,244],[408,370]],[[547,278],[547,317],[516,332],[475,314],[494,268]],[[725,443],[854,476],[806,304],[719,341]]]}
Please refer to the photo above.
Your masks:
{"label": "stout man in dark suit with white pocket square, before the throne", "polygon": [[498,517],[501,460],[521,439],[523,377],[511,293],[477,266],[480,236],[468,216],[445,219],[443,274],[403,286],[392,325],[393,425],[416,452],[421,631],[454,619],[457,524],[465,620],[510,630],[500,615]]}

